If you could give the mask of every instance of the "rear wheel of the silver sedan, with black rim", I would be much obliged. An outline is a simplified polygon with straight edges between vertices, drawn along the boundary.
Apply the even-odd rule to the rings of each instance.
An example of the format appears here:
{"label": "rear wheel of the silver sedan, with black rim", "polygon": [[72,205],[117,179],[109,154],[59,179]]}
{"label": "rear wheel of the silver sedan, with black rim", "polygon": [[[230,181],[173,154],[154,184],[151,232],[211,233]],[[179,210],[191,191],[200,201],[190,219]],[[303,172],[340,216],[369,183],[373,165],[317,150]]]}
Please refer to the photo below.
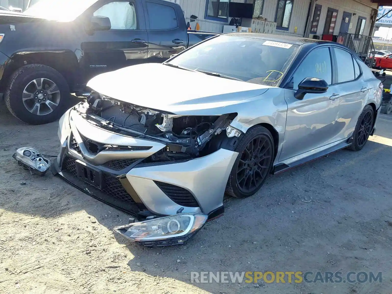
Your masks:
{"label": "rear wheel of the silver sedan, with black rim", "polygon": [[359,151],[361,150],[369,136],[372,132],[374,122],[374,112],[373,108],[370,105],[366,105],[363,109],[361,115],[358,118],[355,131],[354,131],[354,142],[348,146],[347,148],[352,151]]}

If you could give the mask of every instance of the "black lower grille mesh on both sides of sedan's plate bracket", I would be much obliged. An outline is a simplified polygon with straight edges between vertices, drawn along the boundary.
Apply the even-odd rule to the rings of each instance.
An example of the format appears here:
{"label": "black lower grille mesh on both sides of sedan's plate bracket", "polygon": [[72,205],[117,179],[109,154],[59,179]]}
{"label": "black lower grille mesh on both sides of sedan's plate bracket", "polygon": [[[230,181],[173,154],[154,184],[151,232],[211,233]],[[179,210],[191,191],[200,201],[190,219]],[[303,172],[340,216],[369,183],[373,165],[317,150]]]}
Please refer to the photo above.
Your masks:
{"label": "black lower grille mesh on both sides of sedan's plate bracket", "polygon": [[[77,177],[75,160],[73,160],[72,158],[68,156],[64,158],[62,169],[71,172],[71,174]],[[105,172],[102,173],[102,192],[117,199],[135,204],[135,201],[124,189],[120,180],[118,180],[118,178],[112,176],[111,174],[107,174]]]}

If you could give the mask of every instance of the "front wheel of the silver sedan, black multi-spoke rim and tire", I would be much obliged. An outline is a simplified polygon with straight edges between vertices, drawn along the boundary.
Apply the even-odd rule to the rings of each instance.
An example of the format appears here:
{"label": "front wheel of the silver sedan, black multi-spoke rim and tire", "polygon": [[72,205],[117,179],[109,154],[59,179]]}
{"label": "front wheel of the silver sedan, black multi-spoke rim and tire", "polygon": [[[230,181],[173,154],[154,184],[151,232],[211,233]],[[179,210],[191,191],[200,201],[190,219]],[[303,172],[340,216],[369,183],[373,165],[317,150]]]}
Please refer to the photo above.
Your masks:
{"label": "front wheel of the silver sedan, black multi-spoke rim and tire", "polygon": [[239,154],[226,186],[226,193],[235,198],[246,198],[259,191],[274,159],[274,140],[265,127],[256,125],[241,136],[234,149]]}

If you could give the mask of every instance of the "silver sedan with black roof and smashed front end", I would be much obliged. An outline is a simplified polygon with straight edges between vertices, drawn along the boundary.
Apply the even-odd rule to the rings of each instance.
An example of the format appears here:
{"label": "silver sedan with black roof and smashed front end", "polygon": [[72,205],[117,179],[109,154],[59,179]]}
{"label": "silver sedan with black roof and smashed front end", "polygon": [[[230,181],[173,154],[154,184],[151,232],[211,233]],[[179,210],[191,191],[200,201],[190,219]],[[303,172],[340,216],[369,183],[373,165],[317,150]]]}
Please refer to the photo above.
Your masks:
{"label": "silver sedan with black roof and smashed front end", "polygon": [[383,89],[337,43],[250,33],[222,34],[88,86],[87,102],[60,120],[55,173],[138,220],[159,220],[129,233],[150,243],[169,235],[181,243],[223,213],[225,192],[245,198],[270,173],[361,150]]}

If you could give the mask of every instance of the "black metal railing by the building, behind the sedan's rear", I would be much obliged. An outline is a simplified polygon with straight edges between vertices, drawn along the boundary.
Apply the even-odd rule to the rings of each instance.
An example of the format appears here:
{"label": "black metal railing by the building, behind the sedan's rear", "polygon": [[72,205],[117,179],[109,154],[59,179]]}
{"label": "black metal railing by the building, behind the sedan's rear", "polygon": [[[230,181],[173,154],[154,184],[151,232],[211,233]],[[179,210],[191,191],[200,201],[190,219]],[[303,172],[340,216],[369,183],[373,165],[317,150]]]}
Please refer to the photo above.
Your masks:
{"label": "black metal railing by the building, behind the sedan's rear", "polygon": [[374,58],[369,58],[375,52],[371,36],[340,33],[337,42],[355,51],[368,67],[374,66]]}

